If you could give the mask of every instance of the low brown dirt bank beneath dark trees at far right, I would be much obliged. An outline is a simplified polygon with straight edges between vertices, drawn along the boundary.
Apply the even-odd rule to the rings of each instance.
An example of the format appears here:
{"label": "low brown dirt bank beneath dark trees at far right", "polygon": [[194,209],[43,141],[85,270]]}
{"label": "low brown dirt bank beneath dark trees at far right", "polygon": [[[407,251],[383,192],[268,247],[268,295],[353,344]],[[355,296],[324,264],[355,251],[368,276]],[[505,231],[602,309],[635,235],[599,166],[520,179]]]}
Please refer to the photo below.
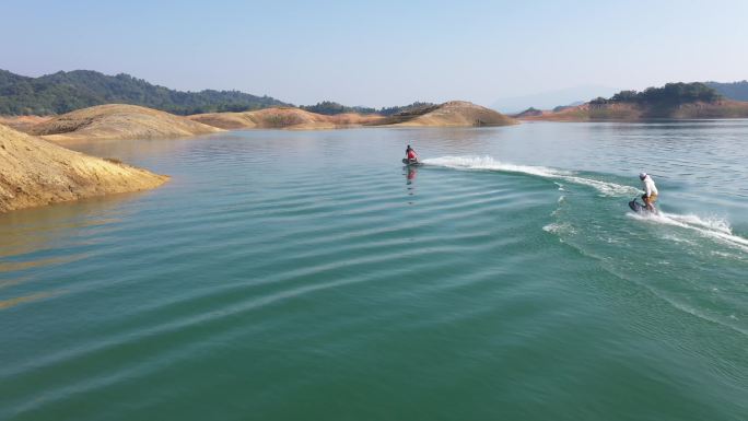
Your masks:
{"label": "low brown dirt bank beneath dark trees at far right", "polygon": [[748,103],[716,101],[690,103],[673,107],[640,105],[632,103],[582,104],[560,112],[544,110],[540,115],[517,116],[522,120],[540,121],[638,121],[653,118],[748,118]]}

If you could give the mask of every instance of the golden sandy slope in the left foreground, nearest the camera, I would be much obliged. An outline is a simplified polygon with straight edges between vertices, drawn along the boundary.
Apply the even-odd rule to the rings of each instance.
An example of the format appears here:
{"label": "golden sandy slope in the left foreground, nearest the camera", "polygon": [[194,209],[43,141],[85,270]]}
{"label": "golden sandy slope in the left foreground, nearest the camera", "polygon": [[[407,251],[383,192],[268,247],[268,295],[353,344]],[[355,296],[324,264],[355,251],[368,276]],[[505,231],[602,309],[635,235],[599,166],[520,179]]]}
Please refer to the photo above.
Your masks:
{"label": "golden sandy slope in the left foreground, nearest the camera", "polygon": [[84,155],[0,125],[0,212],[154,188],[168,177]]}

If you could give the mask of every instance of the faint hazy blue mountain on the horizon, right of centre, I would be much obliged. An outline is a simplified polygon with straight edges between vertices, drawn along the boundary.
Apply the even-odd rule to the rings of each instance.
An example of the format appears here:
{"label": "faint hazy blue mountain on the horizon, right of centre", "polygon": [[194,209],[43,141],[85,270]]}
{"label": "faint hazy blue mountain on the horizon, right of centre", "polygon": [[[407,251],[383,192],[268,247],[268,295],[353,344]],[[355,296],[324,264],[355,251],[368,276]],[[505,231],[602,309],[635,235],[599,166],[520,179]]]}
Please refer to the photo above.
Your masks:
{"label": "faint hazy blue mountain on the horizon, right of centre", "polygon": [[491,104],[491,108],[510,114],[516,114],[530,107],[551,109],[560,105],[584,103],[598,96],[607,97],[617,91],[619,90],[601,85],[574,86],[558,91],[496,100]]}

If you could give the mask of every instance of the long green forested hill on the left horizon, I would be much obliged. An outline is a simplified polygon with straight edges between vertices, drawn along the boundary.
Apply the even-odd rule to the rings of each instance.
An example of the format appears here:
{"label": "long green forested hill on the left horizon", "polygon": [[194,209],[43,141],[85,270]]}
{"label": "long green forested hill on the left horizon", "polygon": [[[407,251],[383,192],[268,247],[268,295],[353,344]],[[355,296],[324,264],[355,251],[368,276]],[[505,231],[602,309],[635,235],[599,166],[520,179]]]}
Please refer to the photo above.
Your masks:
{"label": "long green forested hill on the left horizon", "polygon": [[238,91],[175,91],[125,73],[113,77],[75,70],[28,78],[0,70],[0,115],[63,114],[112,103],[142,105],[180,115],[290,105],[270,96]]}

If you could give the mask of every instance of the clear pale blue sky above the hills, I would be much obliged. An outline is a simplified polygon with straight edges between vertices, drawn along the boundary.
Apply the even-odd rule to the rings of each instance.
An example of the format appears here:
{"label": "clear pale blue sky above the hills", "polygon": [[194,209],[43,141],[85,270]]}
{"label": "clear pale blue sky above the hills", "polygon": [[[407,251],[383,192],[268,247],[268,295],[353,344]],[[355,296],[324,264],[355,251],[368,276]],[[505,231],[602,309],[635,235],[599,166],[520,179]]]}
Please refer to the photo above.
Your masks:
{"label": "clear pale blue sky above the hills", "polygon": [[[12,1],[0,69],[374,107],[748,79],[748,1]],[[587,98],[580,98],[587,100]]]}

